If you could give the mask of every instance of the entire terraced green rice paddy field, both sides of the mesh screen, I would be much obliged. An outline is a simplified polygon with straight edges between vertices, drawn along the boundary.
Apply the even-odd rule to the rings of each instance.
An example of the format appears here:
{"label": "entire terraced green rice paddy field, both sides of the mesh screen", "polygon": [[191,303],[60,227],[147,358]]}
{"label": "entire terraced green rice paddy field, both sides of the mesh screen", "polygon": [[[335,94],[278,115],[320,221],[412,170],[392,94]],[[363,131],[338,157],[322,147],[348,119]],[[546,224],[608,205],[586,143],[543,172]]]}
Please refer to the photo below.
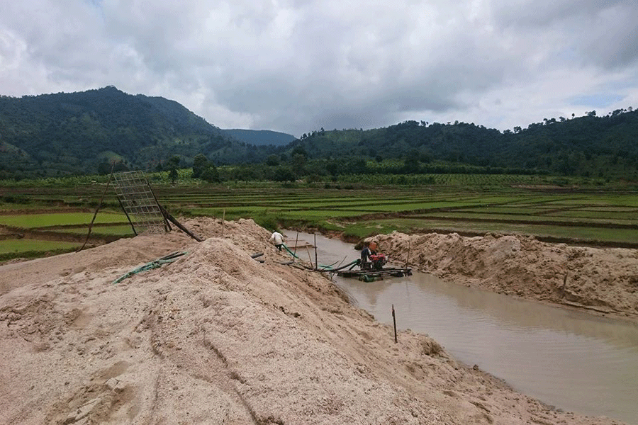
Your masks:
{"label": "entire terraced green rice paddy field, both sides of the mesh screen", "polygon": [[[395,230],[526,234],[568,244],[638,247],[638,193],[512,185],[486,186],[454,179],[429,186],[347,188],[152,184],[157,199],[174,215],[252,218],[275,227],[320,229],[357,240]],[[445,183],[445,182],[448,183]],[[452,181],[452,183],[449,183]],[[134,235],[113,191],[104,183],[74,187],[0,187],[0,261],[71,251]],[[113,192],[113,193],[112,193]]]}

